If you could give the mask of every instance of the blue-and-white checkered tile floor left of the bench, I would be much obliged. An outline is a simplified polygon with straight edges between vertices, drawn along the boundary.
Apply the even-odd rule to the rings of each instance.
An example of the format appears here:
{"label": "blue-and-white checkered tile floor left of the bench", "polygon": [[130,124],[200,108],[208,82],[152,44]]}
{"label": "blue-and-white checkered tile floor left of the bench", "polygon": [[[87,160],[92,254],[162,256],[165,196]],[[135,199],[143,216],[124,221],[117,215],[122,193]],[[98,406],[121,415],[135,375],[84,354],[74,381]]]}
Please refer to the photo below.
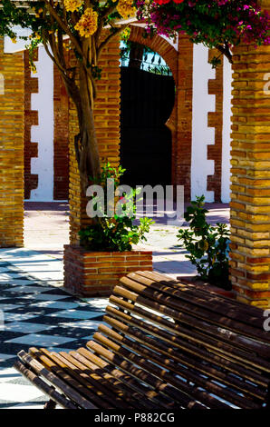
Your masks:
{"label": "blue-and-white checkered tile floor left of the bench", "polygon": [[105,298],[85,303],[43,286],[0,261],[0,409],[40,409],[47,401],[13,364],[29,346],[55,352],[85,345],[102,321]]}

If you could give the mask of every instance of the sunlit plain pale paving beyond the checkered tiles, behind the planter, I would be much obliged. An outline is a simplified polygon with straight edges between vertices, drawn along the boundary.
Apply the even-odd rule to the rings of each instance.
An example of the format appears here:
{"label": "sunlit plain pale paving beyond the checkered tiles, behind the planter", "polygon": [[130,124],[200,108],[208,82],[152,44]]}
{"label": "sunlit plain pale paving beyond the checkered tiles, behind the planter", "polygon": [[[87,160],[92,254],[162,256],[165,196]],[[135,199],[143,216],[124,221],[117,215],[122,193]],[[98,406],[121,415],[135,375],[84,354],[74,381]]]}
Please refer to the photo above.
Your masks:
{"label": "sunlit plain pale paving beyond the checkered tiles, behind the planter", "polygon": [[[227,204],[207,204],[206,206],[209,210],[207,219],[210,223],[229,222]],[[156,223],[151,226],[148,241],[140,247],[153,251],[154,268],[175,277],[179,274],[195,274],[194,267],[185,258],[185,251],[178,247],[176,235],[179,226],[166,223],[164,217],[153,219]],[[63,244],[68,243],[68,204],[31,202],[25,204],[24,244],[27,249],[52,259],[62,260]]]}

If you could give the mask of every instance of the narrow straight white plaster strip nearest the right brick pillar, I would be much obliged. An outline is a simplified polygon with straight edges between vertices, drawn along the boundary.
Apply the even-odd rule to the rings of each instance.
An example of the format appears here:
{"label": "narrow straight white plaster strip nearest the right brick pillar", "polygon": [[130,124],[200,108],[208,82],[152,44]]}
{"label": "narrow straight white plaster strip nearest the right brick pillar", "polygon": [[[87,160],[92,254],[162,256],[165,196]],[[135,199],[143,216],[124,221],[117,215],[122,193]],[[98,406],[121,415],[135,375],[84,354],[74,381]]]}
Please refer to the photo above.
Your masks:
{"label": "narrow straight white plaster strip nearest the right brick pillar", "polygon": [[231,115],[232,115],[232,65],[224,57],[223,69],[223,134],[222,134],[222,176],[221,201],[230,201],[230,145],[231,145]]}

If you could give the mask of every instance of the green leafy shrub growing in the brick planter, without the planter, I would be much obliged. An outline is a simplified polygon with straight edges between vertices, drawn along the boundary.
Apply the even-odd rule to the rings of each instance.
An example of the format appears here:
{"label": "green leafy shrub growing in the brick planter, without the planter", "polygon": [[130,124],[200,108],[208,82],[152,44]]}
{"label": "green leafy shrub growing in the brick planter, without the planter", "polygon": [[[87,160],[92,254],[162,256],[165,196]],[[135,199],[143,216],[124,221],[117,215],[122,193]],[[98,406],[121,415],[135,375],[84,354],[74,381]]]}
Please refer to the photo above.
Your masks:
{"label": "green leafy shrub growing in the brick planter, without the planter", "polygon": [[[111,166],[111,164],[105,164],[101,168],[101,177],[93,180],[95,184],[99,184],[103,187],[105,200],[104,206],[108,208],[111,203],[107,199],[107,183],[108,179],[114,179],[114,192],[116,192],[117,187],[120,184],[121,175],[124,174],[125,169],[121,166],[116,169]],[[123,200],[123,210],[130,209],[131,206],[131,215],[130,211],[127,215],[118,215],[114,214],[110,217],[107,213],[107,209],[101,208],[102,216],[96,217],[96,222],[92,225],[82,229],[79,233],[81,238],[81,244],[88,250],[91,251],[104,251],[104,252],[124,252],[130,251],[133,244],[137,244],[140,241],[146,241],[145,234],[149,233],[149,227],[154,221],[144,217],[140,218],[140,224],[134,224],[136,207],[134,198],[136,196],[136,190],[131,189],[130,194],[125,194],[124,196],[116,196],[118,200]],[[96,201],[95,207],[98,212],[99,210],[99,200]]]}

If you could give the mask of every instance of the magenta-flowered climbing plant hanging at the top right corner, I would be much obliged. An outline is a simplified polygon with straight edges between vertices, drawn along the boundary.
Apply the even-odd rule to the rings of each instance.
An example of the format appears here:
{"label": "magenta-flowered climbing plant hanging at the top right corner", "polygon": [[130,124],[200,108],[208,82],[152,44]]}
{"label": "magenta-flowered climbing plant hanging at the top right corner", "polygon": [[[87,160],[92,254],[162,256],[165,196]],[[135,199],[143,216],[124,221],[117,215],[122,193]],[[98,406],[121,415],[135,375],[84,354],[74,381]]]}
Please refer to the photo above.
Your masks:
{"label": "magenta-flowered climbing plant hanging at the top right corner", "polygon": [[[240,42],[269,45],[269,15],[256,0],[137,0],[138,18],[148,33],[187,34],[195,43],[216,47],[232,62],[231,47]],[[214,65],[218,64],[214,59]]]}

